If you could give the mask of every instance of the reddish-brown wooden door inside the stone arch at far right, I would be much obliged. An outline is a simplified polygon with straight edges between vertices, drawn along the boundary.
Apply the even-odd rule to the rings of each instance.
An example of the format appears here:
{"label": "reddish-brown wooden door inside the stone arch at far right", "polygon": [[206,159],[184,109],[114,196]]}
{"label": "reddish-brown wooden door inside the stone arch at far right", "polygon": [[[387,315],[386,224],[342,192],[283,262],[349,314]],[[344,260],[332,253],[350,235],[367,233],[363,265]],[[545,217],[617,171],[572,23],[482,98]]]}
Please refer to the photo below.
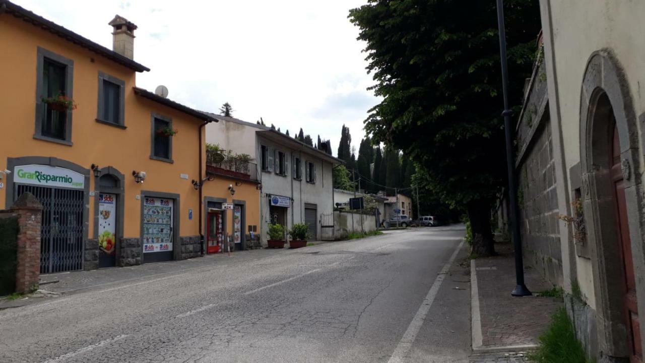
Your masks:
{"label": "reddish-brown wooden door inside the stone arch at far right", "polygon": [[636,280],[634,278],[634,264],[631,258],[630,229],[627,219],[625,200],[625,185],[620,169],[620,143],[618,129],[613,130],[613,148],[611,160],[611,180],[613,182],[614,199],[616,200],[616,216],[618,223],[618,241],[620,243],[620,260],[624,281],[622,282],[624,311],[628,333],[628,347],[630,349],[630,362],[642,362],[642,346],[640,344],[639,310],[636,300]]}

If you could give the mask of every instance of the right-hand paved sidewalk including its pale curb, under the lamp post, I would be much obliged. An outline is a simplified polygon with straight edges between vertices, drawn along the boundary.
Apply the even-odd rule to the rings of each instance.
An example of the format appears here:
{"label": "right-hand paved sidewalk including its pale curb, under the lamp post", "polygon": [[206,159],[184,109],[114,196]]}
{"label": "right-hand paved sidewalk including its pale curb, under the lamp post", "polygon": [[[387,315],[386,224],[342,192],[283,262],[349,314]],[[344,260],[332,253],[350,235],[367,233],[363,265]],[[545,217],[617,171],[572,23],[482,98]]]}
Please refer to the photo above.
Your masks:
{"label": "right-hand paved sidewalk including its pale curb, under the lamp post", "polygon": [[[551,315],[562,306],[550,297],[511,296],[515,287],[513,245],[495,244],[498,256],[477,258],[470,264],[473,362],[524,362],[519,352],[535,349],[546,331]],[[524,280],[534,294],[553,286],[539,271],[525,266]],[[490,355],[490,353],[516,352]],[[479,360],[477,360],[479,359]]]}

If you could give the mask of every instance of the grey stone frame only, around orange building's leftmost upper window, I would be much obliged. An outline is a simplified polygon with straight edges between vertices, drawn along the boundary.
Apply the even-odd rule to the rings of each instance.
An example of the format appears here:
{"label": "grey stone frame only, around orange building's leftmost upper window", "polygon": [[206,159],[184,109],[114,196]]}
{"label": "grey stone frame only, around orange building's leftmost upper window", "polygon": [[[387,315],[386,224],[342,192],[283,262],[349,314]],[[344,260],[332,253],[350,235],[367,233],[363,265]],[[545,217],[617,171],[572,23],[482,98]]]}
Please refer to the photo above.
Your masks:
{"label": "grey stone frame only, around orange building's leftmost upper window", "polygon": [[50,138],[43,135],[43,110],[45,103],[43,102],[43,67],[45,65],[45,58],[51,59],[56,63],[61,63],[65,66],[65,94],[69,98],[74,98],[74,61],[67,57],[56,54],[51,50],[43,47],[38,47],[36,50],[36,99],[35,99],[35,131],[34,139],[51,141],[60,143],[67,146],[74,145],[72,143],[72,114],[74,112],[66,112],[65,120],[65,138],[60,140],[57,138]]}

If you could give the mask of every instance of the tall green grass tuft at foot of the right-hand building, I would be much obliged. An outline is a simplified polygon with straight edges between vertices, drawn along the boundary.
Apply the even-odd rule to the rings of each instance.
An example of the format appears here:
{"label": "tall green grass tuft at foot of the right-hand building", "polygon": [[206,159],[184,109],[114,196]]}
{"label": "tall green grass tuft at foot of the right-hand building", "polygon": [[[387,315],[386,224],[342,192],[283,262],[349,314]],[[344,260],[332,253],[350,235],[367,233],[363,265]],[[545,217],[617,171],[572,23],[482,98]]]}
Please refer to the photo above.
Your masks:
{"label": "tall green grass tuft at foot of the right-hand building", "polygon": [[551,325],[539,340],[539,349],[529,355],[533,363],[590,363],[564,307],[551,316]]}

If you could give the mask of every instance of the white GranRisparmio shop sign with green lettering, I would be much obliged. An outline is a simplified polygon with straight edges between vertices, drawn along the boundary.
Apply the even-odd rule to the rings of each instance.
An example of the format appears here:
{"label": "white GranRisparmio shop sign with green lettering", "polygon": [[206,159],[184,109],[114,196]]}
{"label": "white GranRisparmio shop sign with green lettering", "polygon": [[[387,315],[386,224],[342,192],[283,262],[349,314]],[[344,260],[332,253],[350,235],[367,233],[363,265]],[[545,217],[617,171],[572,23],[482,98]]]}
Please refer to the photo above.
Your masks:
{"label": "white GranRisparmio shop sign with green lettering", "polygon": [[14,182],[40,185],[41,187],[63,187],[84,189],[85,177],[70,169],[49,165],[19,165],[14,167]]}

